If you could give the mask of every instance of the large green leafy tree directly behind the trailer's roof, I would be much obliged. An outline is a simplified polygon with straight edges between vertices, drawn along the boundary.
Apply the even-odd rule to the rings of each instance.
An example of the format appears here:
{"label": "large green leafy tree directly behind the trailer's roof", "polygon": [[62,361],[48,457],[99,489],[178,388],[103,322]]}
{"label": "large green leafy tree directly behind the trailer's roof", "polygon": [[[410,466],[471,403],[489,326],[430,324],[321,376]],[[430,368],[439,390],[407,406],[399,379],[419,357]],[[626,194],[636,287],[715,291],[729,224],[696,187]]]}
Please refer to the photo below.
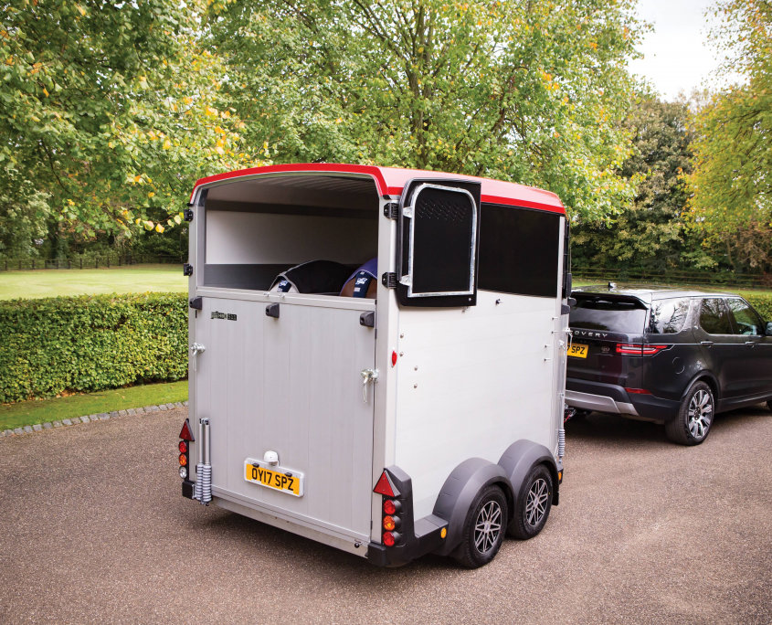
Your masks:
{"label": "large green leafy tree directly behind the trailer's roof", "polygon": [[634,195],[633,4],[266,0],[213,5],[209,26],[244,136],[275,160],[488,175],[603,217]]}

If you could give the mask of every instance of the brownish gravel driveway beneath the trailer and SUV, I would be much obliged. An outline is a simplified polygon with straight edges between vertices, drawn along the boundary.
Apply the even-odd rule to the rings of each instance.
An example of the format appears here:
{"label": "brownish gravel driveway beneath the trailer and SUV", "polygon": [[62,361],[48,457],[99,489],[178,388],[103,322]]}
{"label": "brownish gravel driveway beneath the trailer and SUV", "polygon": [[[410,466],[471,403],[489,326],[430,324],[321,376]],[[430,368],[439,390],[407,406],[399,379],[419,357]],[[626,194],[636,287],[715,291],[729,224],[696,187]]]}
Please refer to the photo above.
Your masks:
{"label": "brownish gravel driveway beneath the trailer and SUV", "polygon": [[186,408],[0,440],[0,622],[770,623],[772,414],[569,423],[561,503],[488,567],[365,560],[180,496]]}

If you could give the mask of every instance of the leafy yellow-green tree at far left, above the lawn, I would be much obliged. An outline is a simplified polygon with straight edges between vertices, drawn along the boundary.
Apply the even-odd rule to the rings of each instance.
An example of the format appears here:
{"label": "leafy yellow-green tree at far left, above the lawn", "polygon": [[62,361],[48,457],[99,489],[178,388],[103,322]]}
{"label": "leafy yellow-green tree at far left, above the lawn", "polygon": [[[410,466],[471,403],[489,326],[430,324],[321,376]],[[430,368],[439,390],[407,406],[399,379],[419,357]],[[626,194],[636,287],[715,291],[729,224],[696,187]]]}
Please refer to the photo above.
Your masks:
{"label": "leafy yellow-green tree at far left, above the lawn", "polygon": [[[89,238],[163,231],[198,175],[256,163],[199,45],[198,0],[10,0],[0,27],[0,197]],[[29,189],[34,189],[30,191]],[[2,210],[18,223],[16,213]],[[151,220],[149,208],[161,208]],[[28,212],[28,211],[27,211]]]}

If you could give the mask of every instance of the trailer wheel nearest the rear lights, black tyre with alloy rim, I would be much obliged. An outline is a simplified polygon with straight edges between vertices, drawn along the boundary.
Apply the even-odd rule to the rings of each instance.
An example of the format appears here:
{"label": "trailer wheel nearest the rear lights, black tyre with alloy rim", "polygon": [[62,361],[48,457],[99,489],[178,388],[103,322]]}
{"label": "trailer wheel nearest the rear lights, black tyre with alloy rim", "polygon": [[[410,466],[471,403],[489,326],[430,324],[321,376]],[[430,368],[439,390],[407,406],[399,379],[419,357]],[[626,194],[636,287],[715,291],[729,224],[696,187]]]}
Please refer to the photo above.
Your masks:
{"label": "trailer wheel nearest the rear lights, black tyre with alloy rim", "polygon": [[461,566],[482,567],[499,553],[507,514],[507,499],[498,486],[486,486],[477,494],[464,521],[462,542],[453,554]]}

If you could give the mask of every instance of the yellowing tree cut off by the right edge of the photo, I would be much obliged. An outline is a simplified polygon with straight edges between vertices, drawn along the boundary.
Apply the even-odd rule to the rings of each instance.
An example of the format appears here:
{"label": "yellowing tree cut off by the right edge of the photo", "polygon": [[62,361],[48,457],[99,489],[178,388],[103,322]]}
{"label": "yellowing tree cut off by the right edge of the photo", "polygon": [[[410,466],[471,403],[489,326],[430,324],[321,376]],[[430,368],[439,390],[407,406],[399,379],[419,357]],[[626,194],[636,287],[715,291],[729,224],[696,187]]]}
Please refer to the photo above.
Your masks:
{"label": "yellowing tree cut off by the right edge of the photo", "polygon": [[772,2],[726,0],[714,39],[747,82],[696,115],[691,217],[737,269],[772,270]]}

